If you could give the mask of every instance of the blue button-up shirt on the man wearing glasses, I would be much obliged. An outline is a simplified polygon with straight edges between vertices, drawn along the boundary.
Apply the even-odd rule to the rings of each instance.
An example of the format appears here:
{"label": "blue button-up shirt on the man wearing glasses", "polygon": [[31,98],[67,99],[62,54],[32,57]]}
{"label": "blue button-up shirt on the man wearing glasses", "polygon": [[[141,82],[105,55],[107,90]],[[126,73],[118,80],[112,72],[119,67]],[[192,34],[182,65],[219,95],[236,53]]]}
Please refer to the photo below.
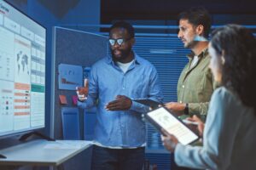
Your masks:
{"label": "blue button-up shirt on the man wearing glasses", "polygon": [[110,56],[103,58],[91,67],[88,99],[78,103],[84,109],[96,105],[96,142],[110,147],[142,146],[146,141],[142,113],[149,108],[133,101],[129,111],[107,111],[105,105],[117,95],[161,102],[160,83],[154,65],[135,54],[135,61],[124,73]]}

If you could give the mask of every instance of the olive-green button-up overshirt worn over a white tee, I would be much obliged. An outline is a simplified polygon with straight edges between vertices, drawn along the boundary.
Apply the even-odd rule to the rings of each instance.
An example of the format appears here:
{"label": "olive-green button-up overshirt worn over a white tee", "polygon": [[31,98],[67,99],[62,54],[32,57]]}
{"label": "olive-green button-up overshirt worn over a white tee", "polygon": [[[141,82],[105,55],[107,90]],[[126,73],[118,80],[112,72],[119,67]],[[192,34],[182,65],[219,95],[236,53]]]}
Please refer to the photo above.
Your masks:
{"label": "olive-green button-up overshirt worn over a white tee", "polygon": [[209,68],[210,56],[205,49],[198,55],[198,62],[191,68],[193,59],[185,65],[177,82],[177,102],[189,103],[189,115],[198,115],[204,120],[207,115],[209,101],[216,88],[212,71]]}

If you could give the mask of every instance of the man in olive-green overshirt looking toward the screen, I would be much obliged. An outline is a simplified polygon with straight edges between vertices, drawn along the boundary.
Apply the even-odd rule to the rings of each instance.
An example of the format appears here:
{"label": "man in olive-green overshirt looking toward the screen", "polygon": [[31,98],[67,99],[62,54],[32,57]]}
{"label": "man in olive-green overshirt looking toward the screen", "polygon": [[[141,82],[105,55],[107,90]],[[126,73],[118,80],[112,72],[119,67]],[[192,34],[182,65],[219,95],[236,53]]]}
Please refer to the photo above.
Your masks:
{"label": "man in olive-green overshirt looking toward the screen", "polygon": [[185,65],[177,82],[177,102],[165,106],[177,116],[200,116],[205,120],[208,104],[214,90],[212,72],[208,68],[208,34],[211,18],[205,8],[191,8],[179,15],[179,37],[184,48],[191,49],[189,63]]}

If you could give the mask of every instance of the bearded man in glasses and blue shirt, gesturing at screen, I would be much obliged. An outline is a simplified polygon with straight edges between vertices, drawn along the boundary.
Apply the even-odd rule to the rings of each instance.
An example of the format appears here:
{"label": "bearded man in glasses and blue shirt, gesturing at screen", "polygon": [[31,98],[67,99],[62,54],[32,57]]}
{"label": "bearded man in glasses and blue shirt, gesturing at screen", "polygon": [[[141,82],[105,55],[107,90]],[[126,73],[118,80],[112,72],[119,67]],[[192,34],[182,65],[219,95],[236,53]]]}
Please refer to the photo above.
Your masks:
{"label": "bearded man in glasses and blue shirt, gesturing at screen", "polygon": [[[146,145],[142,113],[148,106],[132,99],[161,102],[154,65],[132,51],[134,28],[125,21],[113,24],[109,33],[112,57],[91,67],[88,85],[78,88],[79,106],[96,105],[96,144],[91,169],[141,170]],[[97,102],[96,102],[97,100]]]}

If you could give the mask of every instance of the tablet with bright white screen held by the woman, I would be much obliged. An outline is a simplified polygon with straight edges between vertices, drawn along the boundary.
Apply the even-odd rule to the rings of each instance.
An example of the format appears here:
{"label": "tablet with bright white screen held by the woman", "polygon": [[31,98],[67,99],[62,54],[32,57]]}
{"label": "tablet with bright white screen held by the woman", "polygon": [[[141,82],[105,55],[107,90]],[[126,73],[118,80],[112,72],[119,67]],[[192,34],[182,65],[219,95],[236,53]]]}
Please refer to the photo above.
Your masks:
{"label": "tablet with bright white screen held by the woman", "polygon": [[[164,128],[174,135],[181,144],[191,144],[199,137],[189,129],[177,116],[173,116],[165,107],[160,107],[145,114],[145,118],[157,129]],[[161,132],[161,131],[160,131]]]}

